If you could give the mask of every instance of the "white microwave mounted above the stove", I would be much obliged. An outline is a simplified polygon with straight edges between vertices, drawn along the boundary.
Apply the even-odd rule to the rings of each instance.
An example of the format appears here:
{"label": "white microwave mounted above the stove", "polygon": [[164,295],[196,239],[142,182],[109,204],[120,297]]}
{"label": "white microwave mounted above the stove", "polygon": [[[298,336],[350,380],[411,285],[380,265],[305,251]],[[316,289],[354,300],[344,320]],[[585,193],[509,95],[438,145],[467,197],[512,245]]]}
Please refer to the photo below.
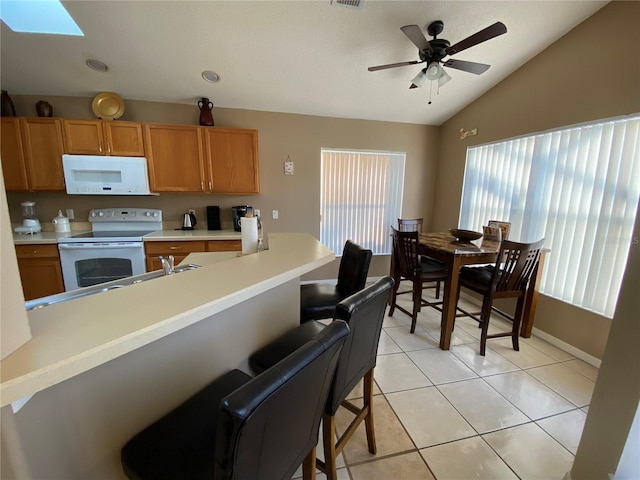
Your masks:
{"label": "white microwave mounted above the stove", "polygon": [[71,195],[153,195],[144,157],[62,155],[62,167]]}

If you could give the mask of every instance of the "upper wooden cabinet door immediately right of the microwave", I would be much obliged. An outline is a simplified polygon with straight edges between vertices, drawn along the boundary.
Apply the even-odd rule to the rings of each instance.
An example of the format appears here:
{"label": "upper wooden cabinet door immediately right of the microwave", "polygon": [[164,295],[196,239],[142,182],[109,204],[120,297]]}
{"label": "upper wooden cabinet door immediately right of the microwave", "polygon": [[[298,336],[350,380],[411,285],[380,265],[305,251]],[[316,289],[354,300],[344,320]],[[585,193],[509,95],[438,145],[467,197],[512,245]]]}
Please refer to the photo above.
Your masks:
{"label": "upper wooden cabinet door immediately right of the microwave", "polygon": [[204,154],[200,127],[145,124],[149,183],[154,192],[203,192]]}

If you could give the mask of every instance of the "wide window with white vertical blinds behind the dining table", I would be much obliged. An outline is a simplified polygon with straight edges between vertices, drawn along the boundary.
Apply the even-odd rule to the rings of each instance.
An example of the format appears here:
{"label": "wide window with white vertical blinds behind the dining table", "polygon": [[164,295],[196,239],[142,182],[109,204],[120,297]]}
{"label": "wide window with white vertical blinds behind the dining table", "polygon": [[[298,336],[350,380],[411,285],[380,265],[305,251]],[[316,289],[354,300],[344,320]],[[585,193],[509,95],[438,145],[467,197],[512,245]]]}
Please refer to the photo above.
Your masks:
{"label": "wide window with white vertical blinds behind the dining table", "polygon": [[640,195],[640,116],[467,150],[460,227],[545,237],[540,291],[613,317]]}

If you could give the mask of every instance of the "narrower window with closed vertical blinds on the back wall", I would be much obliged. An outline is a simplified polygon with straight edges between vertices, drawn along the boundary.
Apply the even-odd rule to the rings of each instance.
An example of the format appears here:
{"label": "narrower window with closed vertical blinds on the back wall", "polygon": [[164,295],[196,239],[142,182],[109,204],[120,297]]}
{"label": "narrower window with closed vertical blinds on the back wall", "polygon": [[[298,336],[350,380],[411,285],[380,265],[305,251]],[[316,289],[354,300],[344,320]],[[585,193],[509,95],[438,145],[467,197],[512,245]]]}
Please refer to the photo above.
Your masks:
{"label": "narrower window with closed vertical blinds on the back wall", "polygon": [[320,241],[342,255],[351,240],[391,253],[389,226],[402,211],[405,154],[322,149]]}

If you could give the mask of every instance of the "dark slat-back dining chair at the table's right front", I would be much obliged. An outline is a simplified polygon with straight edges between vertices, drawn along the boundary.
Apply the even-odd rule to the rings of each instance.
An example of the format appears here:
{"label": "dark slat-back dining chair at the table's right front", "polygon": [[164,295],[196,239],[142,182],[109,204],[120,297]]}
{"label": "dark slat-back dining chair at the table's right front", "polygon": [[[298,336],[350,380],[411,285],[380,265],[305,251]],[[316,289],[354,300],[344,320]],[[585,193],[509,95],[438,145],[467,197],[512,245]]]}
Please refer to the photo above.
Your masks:
{"label": "dark slat-back dining chair at the table's right front", "polygon": [[[495,265],[480,267],[462,267],[458,278],[457,300],[460,299],[460,288],[464,287],[482,295],[482,310],[480,318],[475,314],[465,312],[476,320],[482,328],[480,336],[480,355],[485,355],[487,339],[497,337],[511,337],[513,349],[520,350],[518,336],[520,324],[524,315],[526,291],[531,276],[538,268],[540,252],[544,238],[533,243],[519,243],[505,240],[500,245],[498,259]],[[500,312],[513,322],[510,332],[488,334],[493,301],[498,298],[517,298],[513,316]]]}

